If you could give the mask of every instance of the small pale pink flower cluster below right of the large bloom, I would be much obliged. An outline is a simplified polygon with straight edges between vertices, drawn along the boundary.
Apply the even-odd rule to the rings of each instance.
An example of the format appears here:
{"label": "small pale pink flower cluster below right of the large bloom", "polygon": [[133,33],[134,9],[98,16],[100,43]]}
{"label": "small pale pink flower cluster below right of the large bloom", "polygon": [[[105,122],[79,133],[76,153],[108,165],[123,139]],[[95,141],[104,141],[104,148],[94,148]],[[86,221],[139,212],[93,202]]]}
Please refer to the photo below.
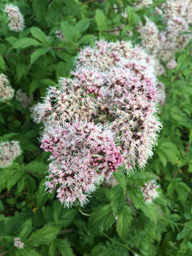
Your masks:
{"label": "small pale pink flower cluster below right of the large bloom", "polygon": [[149,181],[149,183],[144,183],[144,186],[140,189],[146,203],[152,203],[152,201],[159,196],[159,192],[156,190],[159,187],[159,185],[156,185],[155,180]]}

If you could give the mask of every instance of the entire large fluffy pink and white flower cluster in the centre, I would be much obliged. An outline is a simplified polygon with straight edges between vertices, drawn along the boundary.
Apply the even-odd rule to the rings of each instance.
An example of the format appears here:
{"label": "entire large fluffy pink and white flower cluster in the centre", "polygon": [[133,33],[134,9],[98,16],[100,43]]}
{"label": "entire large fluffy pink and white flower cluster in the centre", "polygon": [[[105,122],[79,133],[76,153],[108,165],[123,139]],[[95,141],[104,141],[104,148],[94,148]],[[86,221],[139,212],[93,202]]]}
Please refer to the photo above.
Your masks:
{"label": "entire large fluffy pink and white flower cluster in the centre", "polygon": [[144,168],[152,156],[161,128],[153,62],[129,42],[96,41],[80,51],[73,78],[33,107],[45,125],[41,148],[51,153],[46,186],[65,206],[86,203],[119,165]]}

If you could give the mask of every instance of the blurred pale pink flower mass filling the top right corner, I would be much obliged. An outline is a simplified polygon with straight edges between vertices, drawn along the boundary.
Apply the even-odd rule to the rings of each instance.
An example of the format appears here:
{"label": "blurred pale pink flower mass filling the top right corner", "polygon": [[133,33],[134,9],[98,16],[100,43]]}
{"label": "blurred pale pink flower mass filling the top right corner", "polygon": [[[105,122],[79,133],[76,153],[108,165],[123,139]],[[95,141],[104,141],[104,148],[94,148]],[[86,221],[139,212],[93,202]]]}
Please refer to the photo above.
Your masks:
{"label": "blurred pale pink flower mass filling the top right corner", "polygon": [[185,48],[191,39],[190,34],[183,32],[189,31],[188,23],[192,23],[192,1],[169,0],[164,4],[164,8],[161,7],[162,10],[156,7],[155,14],[164,17],[166,28],[159,32],[156,24],[146,18],[145,26],[139,28],[142,47],[156,60],[163,60],[167,68],[174,69],[177,64],[174,59],[176,51]]}

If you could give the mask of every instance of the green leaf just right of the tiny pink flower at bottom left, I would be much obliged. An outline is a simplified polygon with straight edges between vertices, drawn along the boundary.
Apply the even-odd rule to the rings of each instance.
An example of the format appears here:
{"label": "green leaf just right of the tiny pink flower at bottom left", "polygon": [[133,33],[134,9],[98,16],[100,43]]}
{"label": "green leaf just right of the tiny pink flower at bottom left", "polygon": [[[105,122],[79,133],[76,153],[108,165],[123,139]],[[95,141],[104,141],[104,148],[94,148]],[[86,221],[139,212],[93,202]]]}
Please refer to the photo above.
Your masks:
{"label": "green leaf just right of the tiny pink flower at bottom left", "polygon": [[50,243],[57,237],[60,228],[55,228],[53,225],[47,224],[43,228],[36,230],[28,238],[28,245],[50,245]]}

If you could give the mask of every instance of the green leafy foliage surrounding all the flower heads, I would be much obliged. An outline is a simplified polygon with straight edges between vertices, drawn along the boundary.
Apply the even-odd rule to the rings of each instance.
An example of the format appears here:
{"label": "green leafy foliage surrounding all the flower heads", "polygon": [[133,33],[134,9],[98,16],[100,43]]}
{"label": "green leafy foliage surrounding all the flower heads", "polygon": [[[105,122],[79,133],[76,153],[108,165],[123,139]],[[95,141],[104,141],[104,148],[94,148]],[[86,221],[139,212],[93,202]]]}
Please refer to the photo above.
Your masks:
{"label": "green leafy foliage surrounding all the flower heads", "polygon": [[[144,16],[163,28],[162,17],[154,16],[161,2],[136,12],[131,0],[1,1],[0,71],[15,90],[38,102],[49,85],[69,75],[81,47],[99,38],[139,43],[135,27]],[[18,5],[24,31],[9,31],[6,3]],[[65,41],[55,37],[58,29]],[[125,176],[119,170],[119,185],[98,188],[85,208],[63,208],[54,193],[45,192],[48,154],[39,149],[41,125],[16,100],[0,104],[1,141],[18,140],[23,150],[14,165],[0,169],[0,255],[192,255],[191,44],[176,60],[176,68],[159,78],[166,85],[166,105],[159,107],[164,128],[153,158],[144,171]],[[153,178],[161,196],[145,205],[135,186]],[[16,237],[25,243],[23,250],[14,247]]]}

